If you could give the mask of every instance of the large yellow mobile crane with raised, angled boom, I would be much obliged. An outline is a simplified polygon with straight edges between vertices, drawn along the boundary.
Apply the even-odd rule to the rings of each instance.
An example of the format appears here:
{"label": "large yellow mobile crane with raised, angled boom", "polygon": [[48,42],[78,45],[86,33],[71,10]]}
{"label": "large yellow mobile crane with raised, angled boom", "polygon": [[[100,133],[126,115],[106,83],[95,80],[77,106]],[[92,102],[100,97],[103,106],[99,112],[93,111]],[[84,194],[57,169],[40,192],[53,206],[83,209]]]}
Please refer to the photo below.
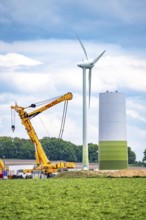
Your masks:
{"label": "large yellow mobile crane with raised, angled boom", "polygon": [[[45,175],[49,177],[49,175],[58,172],[59,169],[69,169],[74,168],[74,163],[72,162],[58,162],[58,163],[51,163],[48,159],[40,141],[39,138],[32,126],[31,119],[41,112],[47,110],[48,108],[53,107],[54,105],[59,104],[60,102],[68,103],[68,100],[71,100],[73,98],[72,93],[67,93],[63,96],[60,96],[58,98],[55,98],[55,100],[51,101],[50,103],[47,103],[46,105],[38,108],[37,110],[34,110],[30,113],[27,113],[25,109],[27,108],[35,108],[36,104],[31,104],[28,107],[21,107],[15,104],[15,106],[11,106],[11,109],[15,110],[18,115],[20,116],[22,124],[25,126],[25,129],[27,131],[28,136],[30,137],[31,141],[35,145],[35,157],[36,157],[36,165],[34,166],[33,171],[41,171]],[[37,103],[38,104],[38,103]],[[65,108],[64,108],[65,109]],[[66,116],[64,116],[66,117]],[[64,124],[64,122],[63,122]],[[15,125],[12,125],[12,130],[15,130]]]}

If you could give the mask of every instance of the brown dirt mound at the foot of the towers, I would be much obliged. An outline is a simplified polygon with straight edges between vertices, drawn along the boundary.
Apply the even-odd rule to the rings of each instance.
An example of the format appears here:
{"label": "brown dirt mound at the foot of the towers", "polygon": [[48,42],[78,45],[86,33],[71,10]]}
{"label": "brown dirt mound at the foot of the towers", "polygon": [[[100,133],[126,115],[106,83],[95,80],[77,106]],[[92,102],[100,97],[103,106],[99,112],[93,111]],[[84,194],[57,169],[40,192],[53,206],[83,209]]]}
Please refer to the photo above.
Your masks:
{"label": "brown dirt mound at the foot of the towers", "polygon": [[60,172],[55,178],[146,177],[146,170],[80,170]]}

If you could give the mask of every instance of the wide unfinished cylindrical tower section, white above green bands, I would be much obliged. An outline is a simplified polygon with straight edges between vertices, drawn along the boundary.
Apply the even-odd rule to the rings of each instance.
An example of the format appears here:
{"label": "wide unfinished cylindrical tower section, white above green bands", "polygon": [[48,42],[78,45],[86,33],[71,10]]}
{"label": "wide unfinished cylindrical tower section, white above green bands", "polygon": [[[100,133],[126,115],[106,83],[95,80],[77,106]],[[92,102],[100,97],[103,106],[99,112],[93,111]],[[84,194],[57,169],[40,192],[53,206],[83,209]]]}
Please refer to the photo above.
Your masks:
{"label": "wide unfinished cylindrical tower section, white above green bands", "polygon": [[99,94],[99,169],[128,167],[125,96],[120,92]]}

